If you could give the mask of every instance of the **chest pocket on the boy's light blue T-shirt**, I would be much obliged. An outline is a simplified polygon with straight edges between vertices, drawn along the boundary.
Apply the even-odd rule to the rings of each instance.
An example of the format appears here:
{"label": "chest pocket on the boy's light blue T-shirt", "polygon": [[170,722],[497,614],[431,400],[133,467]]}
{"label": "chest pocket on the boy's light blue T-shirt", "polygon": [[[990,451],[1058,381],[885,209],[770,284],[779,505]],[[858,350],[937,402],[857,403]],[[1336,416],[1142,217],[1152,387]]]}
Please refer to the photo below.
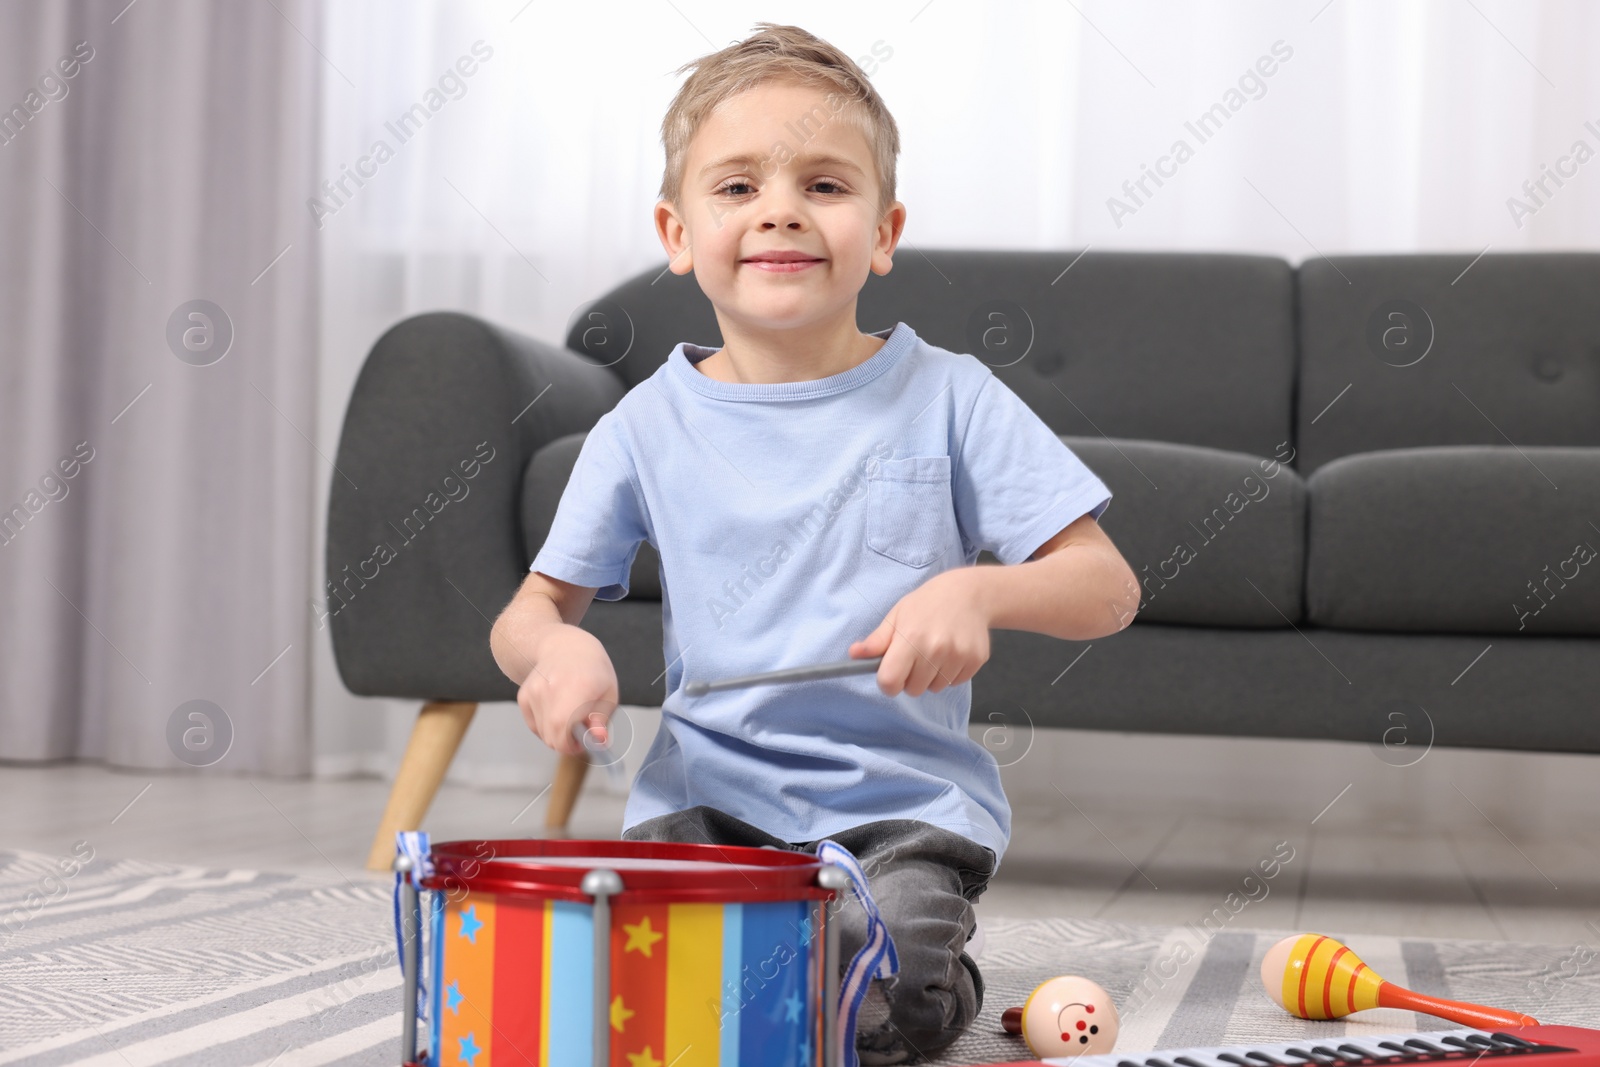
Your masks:
{"label": "chest pocket on the boy's light blue T-shirt", "polygon": [[867,478],[867,547],[917,568],[955,550],[949,456],[878,462]]}

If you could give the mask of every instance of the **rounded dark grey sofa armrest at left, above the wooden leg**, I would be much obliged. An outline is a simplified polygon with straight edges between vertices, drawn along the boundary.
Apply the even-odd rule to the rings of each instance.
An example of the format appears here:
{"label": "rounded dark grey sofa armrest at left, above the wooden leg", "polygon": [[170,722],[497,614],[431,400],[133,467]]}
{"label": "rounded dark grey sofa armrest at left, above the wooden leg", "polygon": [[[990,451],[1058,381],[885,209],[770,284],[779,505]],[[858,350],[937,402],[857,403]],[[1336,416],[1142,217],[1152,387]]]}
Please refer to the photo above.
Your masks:
{"label": "rounded dark grey sofa armrest at left, above the wooden leg", "polygon": [[432,312],[390,328],[344,414],[314,600],[363,696],[506,701],[490,625],[528,571],[523,467],[626,394],[568,349]]}

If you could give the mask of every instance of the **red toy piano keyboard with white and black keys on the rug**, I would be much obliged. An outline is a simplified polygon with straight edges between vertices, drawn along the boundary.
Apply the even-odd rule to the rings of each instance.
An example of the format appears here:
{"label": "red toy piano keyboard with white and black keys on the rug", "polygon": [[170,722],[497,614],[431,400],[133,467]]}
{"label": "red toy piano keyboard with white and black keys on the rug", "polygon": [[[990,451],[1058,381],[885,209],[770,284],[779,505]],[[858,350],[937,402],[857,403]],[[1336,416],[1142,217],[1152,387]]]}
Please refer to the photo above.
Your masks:
{"label": "red toy piano keyboard with white and black keys on the rug", "polygon": [[[1106,1053],[1027,1059],[1010,1067],[1411,1067],[1522,1057],[1536,1067],[1600,1067],[1600,1030],[1584,1027],[1517,1027],[1515,1030],[1424,1030],[1358,1038],[1301,1038],[1277,1045],[1170,1048],[1155,1053]],[[987,1067],[1000,1067],[989,1064]]]}

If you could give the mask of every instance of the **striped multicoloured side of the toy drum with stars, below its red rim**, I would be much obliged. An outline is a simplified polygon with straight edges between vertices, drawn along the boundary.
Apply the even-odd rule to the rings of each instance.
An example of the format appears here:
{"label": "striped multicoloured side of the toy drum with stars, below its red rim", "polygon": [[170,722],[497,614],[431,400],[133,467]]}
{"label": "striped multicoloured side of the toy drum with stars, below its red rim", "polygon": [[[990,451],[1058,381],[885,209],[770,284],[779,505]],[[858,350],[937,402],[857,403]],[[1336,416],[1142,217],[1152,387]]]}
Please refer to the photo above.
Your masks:
{"label": "striped multicoloured side of the toy drum with stars, below its red rim", "polygon": [[[432,896],[430,1067],[594,1059],[589,902]],[[816,1067],[822,944],[813,901],[610,907],[613,1067]]]}

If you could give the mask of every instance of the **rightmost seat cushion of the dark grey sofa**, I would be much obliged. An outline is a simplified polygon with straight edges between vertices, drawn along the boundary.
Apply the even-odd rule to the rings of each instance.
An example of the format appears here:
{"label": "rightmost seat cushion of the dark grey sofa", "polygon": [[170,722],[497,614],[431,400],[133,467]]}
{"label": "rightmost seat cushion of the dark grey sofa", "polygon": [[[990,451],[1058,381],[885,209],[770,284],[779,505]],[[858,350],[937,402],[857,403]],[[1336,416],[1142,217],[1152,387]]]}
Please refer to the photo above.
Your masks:
{"label": "rightmost seat cushion of the dark grey sofa", "polygon": [[1390,450],[1309,486],[1317,625],[1600,633],[1600,448]]}

